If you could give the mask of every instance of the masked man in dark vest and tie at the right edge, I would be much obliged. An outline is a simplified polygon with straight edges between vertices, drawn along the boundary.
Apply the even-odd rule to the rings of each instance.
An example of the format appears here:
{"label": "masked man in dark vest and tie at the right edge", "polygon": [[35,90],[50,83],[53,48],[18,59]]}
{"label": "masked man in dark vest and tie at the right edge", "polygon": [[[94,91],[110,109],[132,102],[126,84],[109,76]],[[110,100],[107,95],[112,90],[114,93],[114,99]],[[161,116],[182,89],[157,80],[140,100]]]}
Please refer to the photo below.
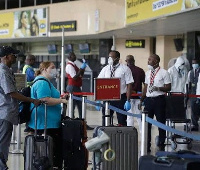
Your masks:
{"label": "masked man in dark vest and tie at the right edge", "polygon": [[[200,67],[199,67],[199,59],[192,60],[192,70],[188,73],[188,83],[189,83],[189,94],[197,94],[200,95]],[[192,125],[191,131],[199,130],[199,116],[200,116],[200,107],[195,107],[195,105],[199,102],[197,98],[190,98],[191,105],[191,119]]]}

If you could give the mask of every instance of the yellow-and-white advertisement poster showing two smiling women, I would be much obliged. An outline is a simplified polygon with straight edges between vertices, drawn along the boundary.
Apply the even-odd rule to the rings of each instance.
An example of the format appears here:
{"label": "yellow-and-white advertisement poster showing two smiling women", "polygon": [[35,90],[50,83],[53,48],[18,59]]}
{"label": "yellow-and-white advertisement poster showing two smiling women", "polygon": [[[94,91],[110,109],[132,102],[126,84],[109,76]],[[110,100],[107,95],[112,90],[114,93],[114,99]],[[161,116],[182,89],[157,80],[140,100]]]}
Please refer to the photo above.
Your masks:
{"label": "yellow-and-white advertisement poster showing two smiling women", "polygon": [[0,39],[47,36],[47,9],[0,14]]}

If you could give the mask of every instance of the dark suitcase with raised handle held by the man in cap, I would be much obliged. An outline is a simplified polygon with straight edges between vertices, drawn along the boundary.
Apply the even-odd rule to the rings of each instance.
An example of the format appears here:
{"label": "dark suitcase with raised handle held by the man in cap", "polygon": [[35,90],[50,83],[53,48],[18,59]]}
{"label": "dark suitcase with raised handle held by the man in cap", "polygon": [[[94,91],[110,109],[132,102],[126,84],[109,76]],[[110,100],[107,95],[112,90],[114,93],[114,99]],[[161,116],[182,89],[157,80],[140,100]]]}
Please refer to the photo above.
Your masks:
{"label": "dark suitcase with raised handle held by the man in cap", "polygon": [[44,136],[37,134],[37,108],[35,134],[28,135],[24,142],[24,170],[53,169],[53,139],[46,135],[47,108],[45,104]]}

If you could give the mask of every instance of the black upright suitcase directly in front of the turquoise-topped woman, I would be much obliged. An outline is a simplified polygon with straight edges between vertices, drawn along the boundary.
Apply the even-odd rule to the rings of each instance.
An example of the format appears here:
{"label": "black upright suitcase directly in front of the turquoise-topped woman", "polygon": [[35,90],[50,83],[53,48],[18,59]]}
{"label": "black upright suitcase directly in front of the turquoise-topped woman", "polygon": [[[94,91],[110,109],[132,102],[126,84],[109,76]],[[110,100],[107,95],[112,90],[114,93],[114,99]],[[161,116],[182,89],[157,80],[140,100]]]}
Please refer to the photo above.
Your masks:
{"label": "black upright suitcase directly in front of the turquoise-topped woman", "polygon": [[62,148],[65,170],[87,170],[88,151],[86,122],[83,119],[65,118],[62,121]]}

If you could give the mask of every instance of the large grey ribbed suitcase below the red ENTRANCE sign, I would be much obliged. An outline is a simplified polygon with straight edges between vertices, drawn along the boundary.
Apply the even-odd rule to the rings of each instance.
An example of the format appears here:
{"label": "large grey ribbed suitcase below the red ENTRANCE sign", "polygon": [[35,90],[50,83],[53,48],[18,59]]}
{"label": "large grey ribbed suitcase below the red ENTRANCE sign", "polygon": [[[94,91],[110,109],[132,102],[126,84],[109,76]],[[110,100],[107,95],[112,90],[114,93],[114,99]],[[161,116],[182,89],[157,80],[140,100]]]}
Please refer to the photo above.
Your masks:
{"label": "large grey ribbed suitcase below the red ENTRANCE sign", "polygon": [[[134,127],[99,126],[93,137],[101,131],[110,137],[110,142],[101,150],[93,152],[93,170],[137,170],[138,169],[138,133]],[[111,147],[115,159],[107,161],[104,152]]]}

